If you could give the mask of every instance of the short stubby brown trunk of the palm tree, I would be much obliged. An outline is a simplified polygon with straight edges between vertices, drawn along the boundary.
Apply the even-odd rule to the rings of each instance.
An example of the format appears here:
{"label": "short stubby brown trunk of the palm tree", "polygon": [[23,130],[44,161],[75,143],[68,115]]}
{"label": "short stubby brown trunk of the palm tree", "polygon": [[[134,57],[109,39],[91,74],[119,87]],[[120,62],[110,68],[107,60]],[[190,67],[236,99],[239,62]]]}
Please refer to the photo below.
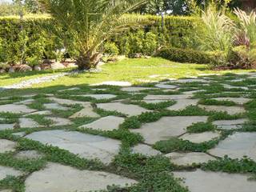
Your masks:
{"label": "short stubby brown trunk of the palm tree", "polygon": [[90,70],[97,66],[98,62],[102,58],[102,54],[96,53],[93,55],[81,55],[77,59],[78,70]]}

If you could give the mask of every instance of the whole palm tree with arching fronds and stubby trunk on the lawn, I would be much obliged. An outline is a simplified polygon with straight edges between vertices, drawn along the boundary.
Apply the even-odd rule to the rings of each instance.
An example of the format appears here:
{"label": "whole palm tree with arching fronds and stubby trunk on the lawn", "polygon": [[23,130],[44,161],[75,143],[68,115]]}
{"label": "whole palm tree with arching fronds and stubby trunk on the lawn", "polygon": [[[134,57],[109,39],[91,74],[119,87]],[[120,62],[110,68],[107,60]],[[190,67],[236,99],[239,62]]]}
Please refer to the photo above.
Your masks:
{"label": "whole palm tree with arching fronds and stubby trunk on the lawn", "polygon": [[74,39],[72,46],[78,51],[76,58],[80,70],[98,64],[102,54],[99,47],[111,35],[141,26],[139,15],[125,15],[147,0],[41,0],[42,6],[57,22],[55,34]]}

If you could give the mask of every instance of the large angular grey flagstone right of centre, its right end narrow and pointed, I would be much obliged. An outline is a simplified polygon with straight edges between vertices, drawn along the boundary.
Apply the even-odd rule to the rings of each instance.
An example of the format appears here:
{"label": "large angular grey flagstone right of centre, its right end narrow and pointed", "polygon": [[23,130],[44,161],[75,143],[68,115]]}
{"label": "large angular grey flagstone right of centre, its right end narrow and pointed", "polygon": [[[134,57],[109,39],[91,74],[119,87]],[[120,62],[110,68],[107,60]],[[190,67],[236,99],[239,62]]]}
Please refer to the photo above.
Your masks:
{"label": "large angular grey flagstone right of centre, its right end narrow and pointed", "polygon": [[140,129],[131,131],[142,134],[146,143],[154,144],[161,140],[185,134],[187,126],[196,122],[206,122],[207,118],[207,116],[164,117],[158,122],[146,123]]}

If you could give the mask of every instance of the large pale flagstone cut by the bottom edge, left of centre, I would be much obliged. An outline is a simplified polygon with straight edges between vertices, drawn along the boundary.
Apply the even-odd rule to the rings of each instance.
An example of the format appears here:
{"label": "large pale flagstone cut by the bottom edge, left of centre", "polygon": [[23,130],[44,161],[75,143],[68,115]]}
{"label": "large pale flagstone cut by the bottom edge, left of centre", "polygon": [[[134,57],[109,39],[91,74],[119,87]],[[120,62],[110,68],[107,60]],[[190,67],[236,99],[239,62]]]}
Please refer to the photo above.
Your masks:
{"label": "large pale flagstone cut by the bottom edge, left of centre", "polygon": [[77,170],[71,166],[48,163],[44,170],[31,174],[25,182],[26,192],[88,192],[107,190],[107,186],[136,184],[130,178],[102,171]]}

